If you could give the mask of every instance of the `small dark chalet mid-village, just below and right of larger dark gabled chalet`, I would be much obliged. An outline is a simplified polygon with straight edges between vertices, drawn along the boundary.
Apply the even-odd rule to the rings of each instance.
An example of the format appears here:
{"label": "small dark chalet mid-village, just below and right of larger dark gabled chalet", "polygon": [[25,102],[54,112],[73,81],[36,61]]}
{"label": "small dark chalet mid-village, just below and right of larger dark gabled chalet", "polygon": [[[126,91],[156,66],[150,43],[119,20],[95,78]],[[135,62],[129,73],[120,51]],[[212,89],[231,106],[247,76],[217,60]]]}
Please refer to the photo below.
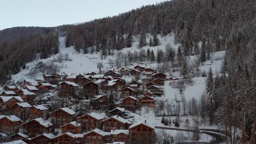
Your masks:
{"label": "small dark chalet mid-village, just below and right of larger dark gabled chalet", "polygon": [[94,98],[90,101],[91,106],[94,106],[97,109],[107,108],[108,106],[108,97],[106,95],[95,95]]}

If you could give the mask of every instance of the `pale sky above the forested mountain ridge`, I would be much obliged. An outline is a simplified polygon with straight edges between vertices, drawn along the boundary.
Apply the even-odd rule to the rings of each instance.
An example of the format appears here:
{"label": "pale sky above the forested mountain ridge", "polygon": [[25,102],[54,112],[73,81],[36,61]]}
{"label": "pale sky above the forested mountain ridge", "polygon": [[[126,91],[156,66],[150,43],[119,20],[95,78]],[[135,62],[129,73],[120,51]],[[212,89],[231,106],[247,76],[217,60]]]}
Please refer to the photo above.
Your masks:
{"label": "pale sky above the forested mountain ridge", "polygon": [[0,29],[86,22],[162,1],[167,0],[0,0]]}

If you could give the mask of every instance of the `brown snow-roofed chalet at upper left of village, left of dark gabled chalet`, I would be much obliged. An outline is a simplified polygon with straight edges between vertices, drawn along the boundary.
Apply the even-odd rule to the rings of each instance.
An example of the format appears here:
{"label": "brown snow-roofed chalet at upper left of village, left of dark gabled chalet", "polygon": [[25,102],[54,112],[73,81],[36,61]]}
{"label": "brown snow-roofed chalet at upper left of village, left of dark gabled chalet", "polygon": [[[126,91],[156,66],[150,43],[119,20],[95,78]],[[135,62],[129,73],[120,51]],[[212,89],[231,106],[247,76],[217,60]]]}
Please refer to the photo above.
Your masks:
{"label": "brown snow-roofed chalet at upper left of village, left of dark gabled chalet", "polygon": [[75,95],[75,92],[78,91],[79,85],[77,85],[77,83],[74,82],[70,82],[70,81],[63,81],[60,82],[60,93],[61,95],[65,96],[73,96]]}

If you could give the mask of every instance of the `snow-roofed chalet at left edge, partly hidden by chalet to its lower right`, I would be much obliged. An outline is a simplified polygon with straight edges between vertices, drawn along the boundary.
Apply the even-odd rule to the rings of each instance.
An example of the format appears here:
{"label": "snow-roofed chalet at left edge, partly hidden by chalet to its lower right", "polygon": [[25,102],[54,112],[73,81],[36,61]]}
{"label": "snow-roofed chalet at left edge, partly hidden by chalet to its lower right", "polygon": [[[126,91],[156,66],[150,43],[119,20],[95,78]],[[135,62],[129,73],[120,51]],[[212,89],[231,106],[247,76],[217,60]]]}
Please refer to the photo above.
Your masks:
{"label": "snow-roofed chalet at left edge, partly hidden by chalet to its lower right", "polygon": [[10,107],[23,101],[24,100],[20,96],[0,96],[0,113],[10,115]]}

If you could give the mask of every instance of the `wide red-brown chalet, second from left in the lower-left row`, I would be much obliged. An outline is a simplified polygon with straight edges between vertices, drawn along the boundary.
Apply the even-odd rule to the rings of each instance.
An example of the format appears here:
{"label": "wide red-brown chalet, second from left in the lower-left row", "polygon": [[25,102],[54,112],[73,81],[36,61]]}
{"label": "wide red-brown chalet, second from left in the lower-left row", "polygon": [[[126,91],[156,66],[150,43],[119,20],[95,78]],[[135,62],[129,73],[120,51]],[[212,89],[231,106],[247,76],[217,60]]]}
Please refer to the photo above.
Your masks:
{"label": "wide red-brown chalet, second from left in the lower-left row", "polygon": [[21,124],[22,132],[30,136],[38,136],[44,133],[53,132],[53,123],[44,120],[43,118],[36,118]]}

